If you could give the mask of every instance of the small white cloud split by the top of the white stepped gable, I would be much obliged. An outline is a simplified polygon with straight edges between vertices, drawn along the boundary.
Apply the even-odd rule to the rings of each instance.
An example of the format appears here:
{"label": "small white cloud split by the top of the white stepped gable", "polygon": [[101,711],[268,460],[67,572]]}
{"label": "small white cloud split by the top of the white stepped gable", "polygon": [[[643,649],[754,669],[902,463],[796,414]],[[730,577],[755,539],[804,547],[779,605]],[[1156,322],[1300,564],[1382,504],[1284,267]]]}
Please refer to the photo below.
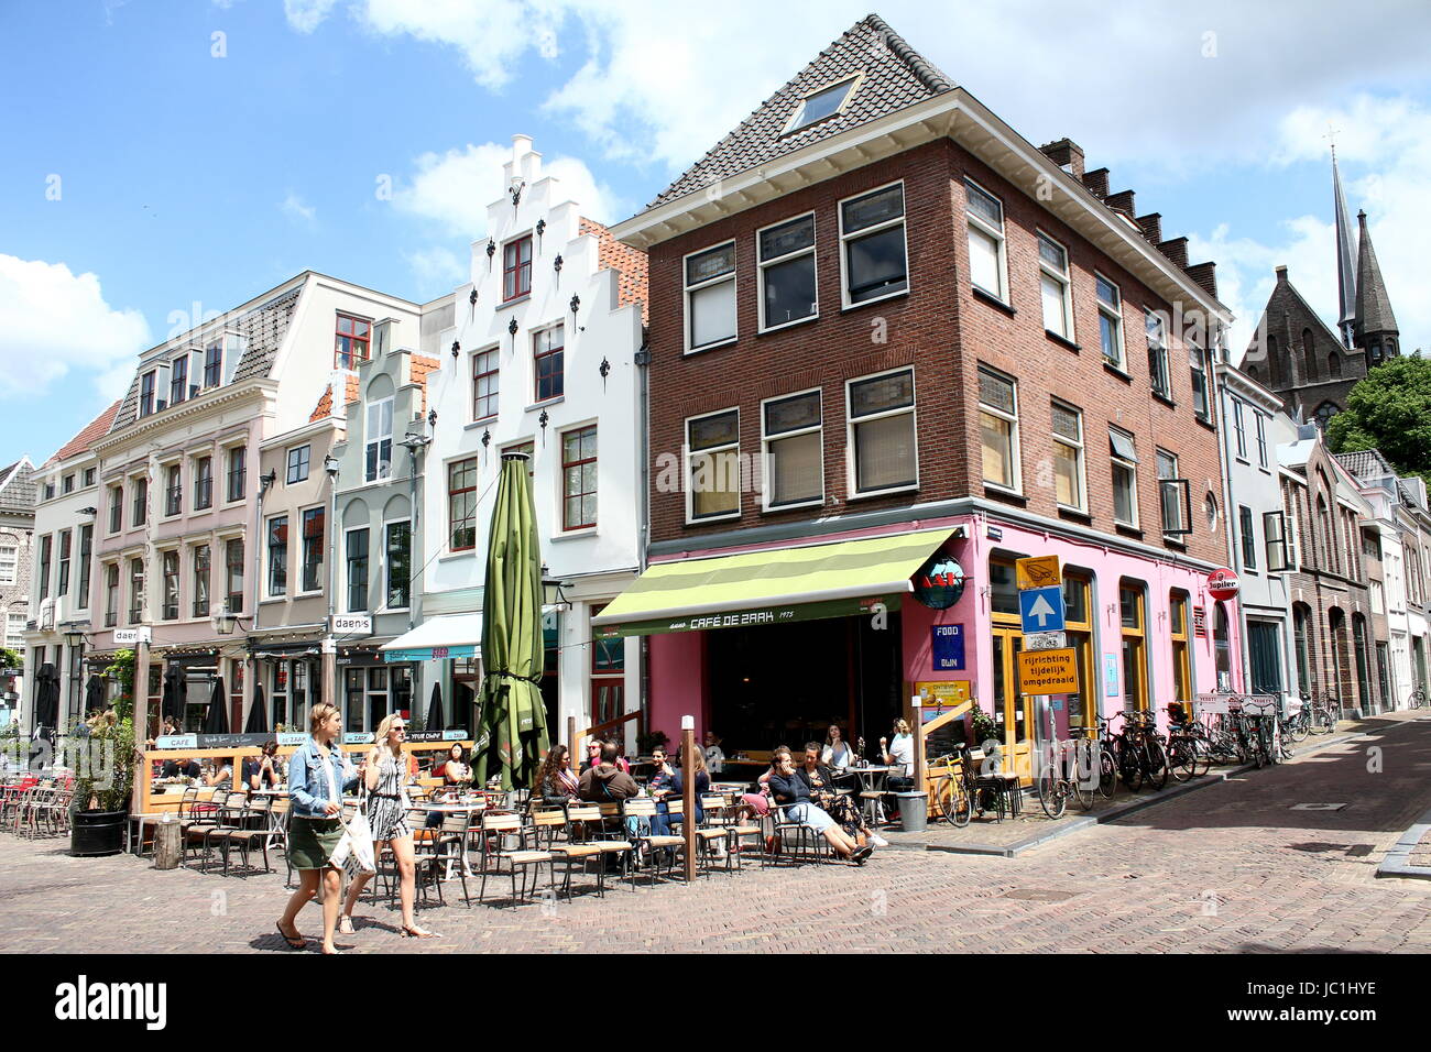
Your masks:
{"label": "small white cloud split by the top of the white stepped gable", "polygon": [[[414,162],[411,183],[394,193],[394,203],[452,235],[478,240],[487,233],[487,206],[507,192],[502,165],[511,156],[512,147],[502,143],[468,143],[445,153],[424,153]],[[582,162],[542,157],[542,173],[561,182],[560,196],[581,205],[584,216],[611,220],[615,200]]]}

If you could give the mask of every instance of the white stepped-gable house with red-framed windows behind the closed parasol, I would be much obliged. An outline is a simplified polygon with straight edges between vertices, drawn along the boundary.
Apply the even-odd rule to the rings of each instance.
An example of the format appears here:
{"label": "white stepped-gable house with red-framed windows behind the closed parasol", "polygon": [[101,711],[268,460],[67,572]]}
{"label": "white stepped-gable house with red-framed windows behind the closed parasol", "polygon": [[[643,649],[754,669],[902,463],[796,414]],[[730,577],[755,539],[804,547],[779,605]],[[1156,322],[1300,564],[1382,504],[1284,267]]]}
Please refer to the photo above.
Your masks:
{"label": "white stepped-gable house with red-framed windows behind the closed parasol", "polygon": [[633,749],[635,720],[621,717],[640,711],[640,643],[595,646],[590,623],[641,564],[645,256],[581,215],[527,136],[502,175],[508,192],[488,206],[428,376],[425,623],[392,658],[436,663],[449,721],[468,723],[495,484],[502,454],[525,452],[542,561],[565,584],[544,617],[551,736],[565,740],[574,719]]}

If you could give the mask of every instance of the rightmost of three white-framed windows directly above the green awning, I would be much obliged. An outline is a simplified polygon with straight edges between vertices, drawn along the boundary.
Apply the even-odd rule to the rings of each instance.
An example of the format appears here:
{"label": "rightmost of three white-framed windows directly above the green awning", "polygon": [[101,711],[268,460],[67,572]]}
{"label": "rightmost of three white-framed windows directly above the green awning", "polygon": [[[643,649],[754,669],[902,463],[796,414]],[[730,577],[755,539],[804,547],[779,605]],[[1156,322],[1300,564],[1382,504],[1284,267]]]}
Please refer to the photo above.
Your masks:
{"label": "rightmost of three white-framed windows directly above the green awning", "polygon": [[903,490],[919,484],[914,434],[914,371],[850,381],[849,435],[854,494]]}

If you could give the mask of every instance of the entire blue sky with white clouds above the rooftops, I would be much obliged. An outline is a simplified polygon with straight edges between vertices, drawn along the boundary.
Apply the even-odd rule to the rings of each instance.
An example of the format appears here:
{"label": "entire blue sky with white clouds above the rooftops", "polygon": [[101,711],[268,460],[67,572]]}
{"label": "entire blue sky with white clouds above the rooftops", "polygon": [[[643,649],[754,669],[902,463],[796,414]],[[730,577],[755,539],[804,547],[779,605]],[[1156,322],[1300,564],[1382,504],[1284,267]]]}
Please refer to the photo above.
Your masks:
{"label": "entire blue sky with white clouds above the rooftops", "polygon": [[[1334,299],[1327,125],[1407,346],[1431,348],[1431,6],[874,7],[1027,139],[1072,136],[1256,321]],[[511,135],[598,219],[650,200],[869,0],[63,0],[0,6],[0,462],[43,461],[133,355],[313,268],[462,281]],[[215,36],[220,34],[220,36]],[[1269,43],[1271,42],[1271,43]],[[1076,56],[1076,60],[1070,56]],[[1371,70],[1365,73],[1362,70]],[[392,193],[382,193],[391,186]],[[1241,349],[1238,341],[1234,346]]]}

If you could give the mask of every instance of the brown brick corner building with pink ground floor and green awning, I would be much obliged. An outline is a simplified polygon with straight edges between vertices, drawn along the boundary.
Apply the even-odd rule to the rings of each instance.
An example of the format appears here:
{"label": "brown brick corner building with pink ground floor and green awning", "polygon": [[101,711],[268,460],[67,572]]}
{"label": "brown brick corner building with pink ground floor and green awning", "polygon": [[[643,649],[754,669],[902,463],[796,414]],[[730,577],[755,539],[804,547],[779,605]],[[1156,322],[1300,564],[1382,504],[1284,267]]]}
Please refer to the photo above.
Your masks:
{"label": "brown brick corner building with pink ground floor and green awning", "polygon": [[[870,16],[614,232],[650,253],[651,568],[597,625],[650,637],[653,726],[873,741],[967,690],[1015,744],[1236,681],[1213,265],[1073,142]],[[1079,670],[1047,707],[1042,554]],[[909,595],[934,567],[953,607]]]}

